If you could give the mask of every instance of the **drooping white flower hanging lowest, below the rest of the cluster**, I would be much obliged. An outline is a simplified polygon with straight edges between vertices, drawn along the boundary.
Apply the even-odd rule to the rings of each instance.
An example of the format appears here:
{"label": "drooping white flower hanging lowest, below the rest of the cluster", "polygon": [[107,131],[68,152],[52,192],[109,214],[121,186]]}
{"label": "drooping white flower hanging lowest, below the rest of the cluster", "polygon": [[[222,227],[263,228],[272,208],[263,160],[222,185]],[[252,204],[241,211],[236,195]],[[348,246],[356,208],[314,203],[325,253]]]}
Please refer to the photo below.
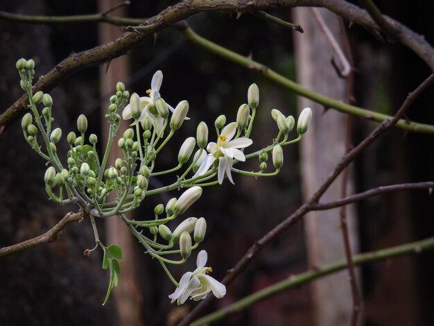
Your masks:
{"label": "drooping white flower hanging lowest, below the rest of the cluster", "polygon": [[191,299],[198,301],[207,298],[209,292],[216,296],[216,298],[223,298],[226,294],[226,286],[215,280],[213,277],[207,275],[212,272],[211,267],[205,267],[207,264],[208,254],[205,250],[198,253],[196,260],[196,268],[193,272],[187,272],[182,275],[180,284],[175,292],[168,296],[171,303],[177,301],[177,304],[183,304],[186,300]]}

